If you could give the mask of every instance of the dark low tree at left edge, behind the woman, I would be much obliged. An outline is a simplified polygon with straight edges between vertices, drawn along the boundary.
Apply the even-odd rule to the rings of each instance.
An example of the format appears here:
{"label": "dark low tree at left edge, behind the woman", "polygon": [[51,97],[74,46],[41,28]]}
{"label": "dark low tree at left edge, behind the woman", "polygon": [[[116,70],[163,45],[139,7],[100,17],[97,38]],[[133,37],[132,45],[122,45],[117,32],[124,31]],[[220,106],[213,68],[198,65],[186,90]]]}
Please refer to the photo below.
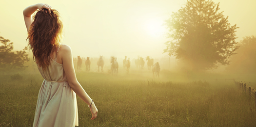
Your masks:
{"label": "dark low tree at left edge, behind the woman", "polygon": [[26,47],[23,50],[13,52],[13,42],[0,36],[0,70],[24,69],[25,62],[29,61]]}

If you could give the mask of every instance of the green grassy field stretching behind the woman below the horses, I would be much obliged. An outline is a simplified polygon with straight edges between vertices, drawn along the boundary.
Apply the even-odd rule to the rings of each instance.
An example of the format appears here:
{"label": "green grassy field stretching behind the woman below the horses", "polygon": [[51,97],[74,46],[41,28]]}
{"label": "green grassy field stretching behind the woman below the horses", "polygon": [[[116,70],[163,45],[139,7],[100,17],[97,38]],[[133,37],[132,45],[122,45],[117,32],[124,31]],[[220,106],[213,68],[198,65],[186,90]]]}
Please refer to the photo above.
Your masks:
{"label": "green grassy field stretching behind the woman below the horses", "polygon": [[[0,75],[0,127],[32,127],[43,79],[39,73],[20,76]],[[233,80],[195,77],[186,79],[167,70],[161,71],[160,79],[147,70],[121,71],[117,76],[79,72],[80,84],[98,108],[98,118],[91,120],[87,104],[78,97],[79,127],[256,125],[255,100]]]}

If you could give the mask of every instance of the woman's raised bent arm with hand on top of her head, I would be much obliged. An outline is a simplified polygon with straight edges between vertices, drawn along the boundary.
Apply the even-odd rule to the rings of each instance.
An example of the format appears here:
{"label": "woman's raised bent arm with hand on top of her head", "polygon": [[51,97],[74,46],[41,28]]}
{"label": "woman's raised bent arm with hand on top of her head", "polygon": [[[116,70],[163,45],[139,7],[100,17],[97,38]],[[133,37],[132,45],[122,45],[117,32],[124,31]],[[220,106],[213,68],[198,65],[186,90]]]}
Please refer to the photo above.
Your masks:
{"label": "woman's raised bent arm with hand on top of her head", "polygon": [[26,7],[24,10],[23,10],[23,16],[24,16],[24,20],[25,20],[25,24],[26,24],[26,28],[27,28],[27,31],[29,30],[29,27],[30,25],[32,24],[32,14],[37,11],[37,9],[39,9],[40,11],[45,8],[45,9],[48,9],[49,12],[51,13],[51,6],[48,5],[48,4],[44,4],[44,3],[38,3],[38,4],[34,4],[34,5],[30,5],[28,7]]}

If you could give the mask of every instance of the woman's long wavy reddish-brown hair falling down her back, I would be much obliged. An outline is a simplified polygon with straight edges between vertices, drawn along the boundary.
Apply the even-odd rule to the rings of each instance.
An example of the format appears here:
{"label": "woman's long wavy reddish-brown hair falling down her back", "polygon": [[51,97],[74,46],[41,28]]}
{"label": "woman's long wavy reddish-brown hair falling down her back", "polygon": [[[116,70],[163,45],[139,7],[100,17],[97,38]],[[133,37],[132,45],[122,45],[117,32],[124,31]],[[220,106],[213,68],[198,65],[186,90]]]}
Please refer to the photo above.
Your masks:
{"label": "woman's long wavy reddish-brown hair falling down her back", "polygon": [[28,31],[28,46],[33,52],[33,60],[45,70],[51,55],[60,46],[63,24],[59,12],[54,9],[51,13],[47,9],[38,11],[33,20]]}

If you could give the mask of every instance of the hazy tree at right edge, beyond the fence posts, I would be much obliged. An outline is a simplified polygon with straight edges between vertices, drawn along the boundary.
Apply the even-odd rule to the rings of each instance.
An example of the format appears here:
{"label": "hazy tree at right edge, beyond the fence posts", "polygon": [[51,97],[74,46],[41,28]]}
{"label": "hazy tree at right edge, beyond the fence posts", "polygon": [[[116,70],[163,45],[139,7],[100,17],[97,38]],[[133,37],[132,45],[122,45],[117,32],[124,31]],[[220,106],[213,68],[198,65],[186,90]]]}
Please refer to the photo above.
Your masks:
{"label": "hazy tree at right edge, beyond the fence posts", "polygon": [[236,55],[232,56],[231,63],[227,70],[234,73],[253,73],[256,72],[256,36],[246,36],[238,44],[239,49]]}

